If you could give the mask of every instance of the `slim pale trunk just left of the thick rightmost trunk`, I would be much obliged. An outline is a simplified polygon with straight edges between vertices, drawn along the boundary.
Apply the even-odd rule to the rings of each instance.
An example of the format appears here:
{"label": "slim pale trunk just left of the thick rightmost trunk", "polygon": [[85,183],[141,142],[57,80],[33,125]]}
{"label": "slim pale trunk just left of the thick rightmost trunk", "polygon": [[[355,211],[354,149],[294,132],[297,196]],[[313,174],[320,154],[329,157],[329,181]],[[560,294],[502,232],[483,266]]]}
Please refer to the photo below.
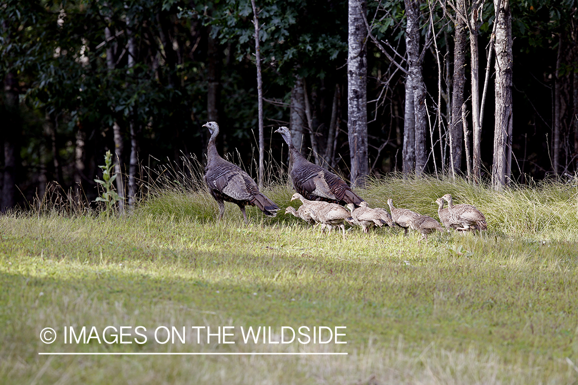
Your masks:
{"label": "slim pale trunk just left of the thick rightmost trunk", "polygon": [[479,29],[478,3],[472,6],[469,25],[470,51],[472,60],[472,126],[473,126],[473,178],[481,178],[481,128],[480,128],[480,89],[479,89],[479,62],[480,52],[477,36]]}

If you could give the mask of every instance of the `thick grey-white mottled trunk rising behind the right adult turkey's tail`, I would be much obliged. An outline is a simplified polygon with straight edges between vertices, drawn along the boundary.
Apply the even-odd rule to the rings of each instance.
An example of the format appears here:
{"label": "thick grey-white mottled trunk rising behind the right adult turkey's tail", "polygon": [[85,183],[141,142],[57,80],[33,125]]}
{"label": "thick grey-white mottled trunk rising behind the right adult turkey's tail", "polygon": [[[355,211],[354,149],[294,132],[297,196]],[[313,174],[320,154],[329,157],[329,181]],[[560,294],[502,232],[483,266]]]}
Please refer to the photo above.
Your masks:
{"label": "thick grey-white mottled trunk rising behind the right adult turkey's tail", "polygon": [[349,0],[347,52],[347,133],[351,185],[365,186],[369,175],[367,144],[367,52],[365,1]]}

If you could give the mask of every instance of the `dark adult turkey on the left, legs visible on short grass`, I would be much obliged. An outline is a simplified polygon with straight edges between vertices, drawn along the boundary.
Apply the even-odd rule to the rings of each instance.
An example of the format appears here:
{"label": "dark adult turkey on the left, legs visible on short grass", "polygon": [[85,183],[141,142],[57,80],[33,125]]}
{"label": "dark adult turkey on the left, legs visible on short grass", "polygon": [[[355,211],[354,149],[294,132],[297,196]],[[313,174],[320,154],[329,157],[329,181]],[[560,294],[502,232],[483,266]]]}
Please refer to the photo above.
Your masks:
{"label": "dark adult turkey on the left, legs visible on short grass", "polygon": [[243,213],[245,224],[247,214],[245,206],[257,206],[267,216],[276,216],[279,207],[268,197],[263,195],[253,180],[245,171],[218,155],[215,139],[218,135],[216,122],[207,122],[203,127],[209,129],[211,138],[207,148],[207,166],[203,179],[213,198],[217,201],[219,216],[223,219],[225,212],[224,201],[235,203]]}

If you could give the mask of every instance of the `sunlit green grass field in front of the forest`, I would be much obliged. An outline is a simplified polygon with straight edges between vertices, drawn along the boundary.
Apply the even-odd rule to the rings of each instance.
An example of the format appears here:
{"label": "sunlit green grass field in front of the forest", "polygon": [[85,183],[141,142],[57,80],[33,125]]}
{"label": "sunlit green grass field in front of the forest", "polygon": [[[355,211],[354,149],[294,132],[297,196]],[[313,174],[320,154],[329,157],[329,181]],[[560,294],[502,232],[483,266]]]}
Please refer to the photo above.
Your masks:
{"label": "sunlit green grass field in front of the forest", "polygon": [[[173,175],[174,176],[174,175]],[[0,216],[0,383],[494,384],[578,382],[578,189],[544,183],[495,193],[464,181],[374,181],[372,207],[452,193],[488,231],[320,234],[280,211],[235,205],[223,222],[198,180],[168,178],[127,218],[55,208]],[[280,207],[290,186],[265,193]],[[297,204],[292,202],[295,207]],[[64,327],[125,329],[140,344],[64,343]],[[140,337],[136,326],[143,326]],[[186,341],[157,343],[158,326]],[[206,328],[232,326],[207,343]],[[244,343],[240,327],[345,326],[336,343]],[[40,331],[54,328],[46,345]],[[110,331],[110,330],[109,330]],[[102,338],[102,334],[99,334]],[[165,335],[161,333],[161,339]],[[93,336],[94,337],[94,336]],[[108,334],[109,341],[113,335]],[[299,337],[299,336],[298,336]],[[325,337],[324,337],[325,338]],[[305,338],[303,338],[305,339]],[[200,341],[200,343],[198,343]],[[221,341],[222,342],[222,341]],[[348,353],[346,356],[39,356],[84,353]]]}

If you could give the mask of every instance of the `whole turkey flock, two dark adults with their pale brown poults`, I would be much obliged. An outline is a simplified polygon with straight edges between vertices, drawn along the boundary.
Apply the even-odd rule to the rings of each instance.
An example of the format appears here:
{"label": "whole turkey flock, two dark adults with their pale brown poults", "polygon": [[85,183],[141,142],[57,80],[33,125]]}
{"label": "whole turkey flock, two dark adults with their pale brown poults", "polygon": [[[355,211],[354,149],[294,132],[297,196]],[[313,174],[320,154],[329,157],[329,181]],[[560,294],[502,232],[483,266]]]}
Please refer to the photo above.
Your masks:
{"label": "whole turkey flock, two dark adults with their pale brown poults", "polygon": [[[247,223],[246,205],[258,207],[267,216],[276,216],[277,211],[280,210],[279,206],[259,191],[253,178],[218,154],[215,145],[218,135],[217,123],[208,122],[203,127],[208,128],[211,133],[204,179],[211,195],[217,201],[219,219],[223,218],[225,212],[224,201],[239,206],[245,223]],[[333,227],[339,227],[345,237],[344,223],[346,221],[360,226],[364,233],[368,233],[369,229],[375,225],[399,226],[403,227],[405,235],[409,229],[412,229],[423,234],[425,239],[433,231],[444,231],[444,227],[447,231],[487,229],[484,214],[470,204],[454,205],[449,194],[435,201],[439,207],[439,219],[444,227],[431,216],[421,215],[406,208],[395,208],[391,199],[387,200],[391,214],[384,208],[370,208],[367,202],[355,194],[341,178],[305,159],[294,147],[287,127],[280,127],[275,132],[280,133],[289,146],[293,165],[291,181],[297,191],[291,200],[299,199],[302,202],[298,210],[291,206],[287,207],[285,214],[297,216],[310,225],[320,226],[323,232],[325,228],[331,232]],[[448,207],[444,208],[446,201]]]}

